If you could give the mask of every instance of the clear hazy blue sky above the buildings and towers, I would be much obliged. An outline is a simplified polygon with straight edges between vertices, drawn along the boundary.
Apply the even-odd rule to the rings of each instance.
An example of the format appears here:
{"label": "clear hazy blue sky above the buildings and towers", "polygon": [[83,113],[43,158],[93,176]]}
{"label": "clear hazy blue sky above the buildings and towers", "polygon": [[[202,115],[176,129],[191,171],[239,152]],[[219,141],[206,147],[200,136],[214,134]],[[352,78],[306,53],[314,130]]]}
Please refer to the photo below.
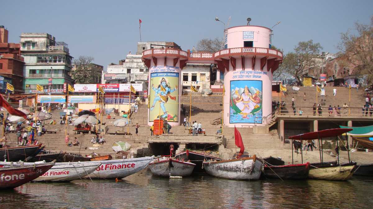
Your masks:
{"label": "clear hazy blue sky above the buildings and towers", "polygon": [[286,52],[299,41],[313,39],[323,51],[335,53],[340,33],[354,22],[369,23],[373,1],[3,1],[0,25],[9,42],[22,32],[49,33],[69,44],[73,57],[88,55],[106,69],[111,62],[136,53],[141,24],[142,42],[173,41],[185,51],[203,38],[222,37],[223,24],[274,29],[272,44]]}

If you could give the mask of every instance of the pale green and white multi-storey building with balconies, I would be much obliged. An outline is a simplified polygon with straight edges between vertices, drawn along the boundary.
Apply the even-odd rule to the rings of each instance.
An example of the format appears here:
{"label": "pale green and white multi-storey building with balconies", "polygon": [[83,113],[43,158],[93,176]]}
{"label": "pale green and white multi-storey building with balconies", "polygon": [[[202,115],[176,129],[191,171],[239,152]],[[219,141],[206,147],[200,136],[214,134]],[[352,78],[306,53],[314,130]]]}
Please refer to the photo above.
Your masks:
{"label": "pale green and white multi-storey building with balconies", "polygon": [[73,57],[65,42],[56,42],[48,33],[22,33],[20,42],[25,93],[35,93],[36,84],[43,86],[45,93],[63,93],[64,83],[72,84]]}

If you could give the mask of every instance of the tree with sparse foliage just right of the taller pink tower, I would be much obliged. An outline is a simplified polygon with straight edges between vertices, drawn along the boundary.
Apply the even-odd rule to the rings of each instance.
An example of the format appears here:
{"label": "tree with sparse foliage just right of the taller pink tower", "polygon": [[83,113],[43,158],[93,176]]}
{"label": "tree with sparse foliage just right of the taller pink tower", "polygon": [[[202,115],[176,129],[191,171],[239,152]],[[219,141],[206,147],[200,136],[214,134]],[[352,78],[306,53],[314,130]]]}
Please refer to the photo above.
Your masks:
{"label": "tree with sparse foliage just right of the taller pink tower", "polygon": [[283,57],[280,68],[283,73],[297,78],[298,83],[303,85],[301,75],[309,67],[315,66],[315,55],[320,54],[322,46],[313,43],[313,40],[301,41],[294,47],[294,52],[289,52]]}

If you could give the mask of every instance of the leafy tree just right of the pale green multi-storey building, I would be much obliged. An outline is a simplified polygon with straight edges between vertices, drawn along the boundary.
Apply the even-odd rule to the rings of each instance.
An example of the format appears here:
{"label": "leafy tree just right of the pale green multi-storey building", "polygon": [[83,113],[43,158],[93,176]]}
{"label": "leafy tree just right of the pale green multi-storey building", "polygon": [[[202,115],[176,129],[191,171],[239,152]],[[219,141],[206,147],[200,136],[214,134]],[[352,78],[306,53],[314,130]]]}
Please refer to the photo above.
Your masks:
{"label": "leafy tree just right of the pale green multi-storey building", "polygon": [[97,66],[92,63],[93,57],[79,56],[73,61],[74,67],[71,70],[71,77],[76,84],[92,84],[96,82],[98,75]]}

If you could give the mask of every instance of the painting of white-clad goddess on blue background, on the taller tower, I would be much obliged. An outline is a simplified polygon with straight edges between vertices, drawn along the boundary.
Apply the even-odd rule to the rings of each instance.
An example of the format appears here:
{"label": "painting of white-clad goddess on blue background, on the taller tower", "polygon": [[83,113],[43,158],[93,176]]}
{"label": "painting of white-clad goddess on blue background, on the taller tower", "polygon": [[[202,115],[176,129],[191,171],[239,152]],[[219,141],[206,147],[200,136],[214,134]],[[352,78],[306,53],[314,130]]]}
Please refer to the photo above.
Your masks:
{"label": "painting of white-clad goddess on blue background, on the taller tower", "polygon": [[262,123],[262,81],[231,81],[229,123]]}

